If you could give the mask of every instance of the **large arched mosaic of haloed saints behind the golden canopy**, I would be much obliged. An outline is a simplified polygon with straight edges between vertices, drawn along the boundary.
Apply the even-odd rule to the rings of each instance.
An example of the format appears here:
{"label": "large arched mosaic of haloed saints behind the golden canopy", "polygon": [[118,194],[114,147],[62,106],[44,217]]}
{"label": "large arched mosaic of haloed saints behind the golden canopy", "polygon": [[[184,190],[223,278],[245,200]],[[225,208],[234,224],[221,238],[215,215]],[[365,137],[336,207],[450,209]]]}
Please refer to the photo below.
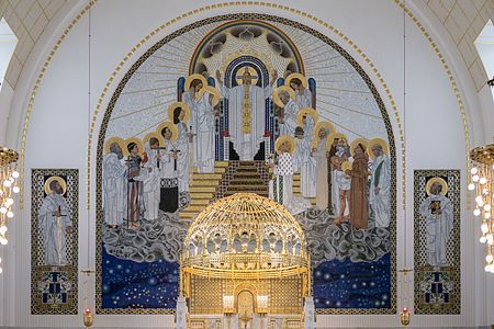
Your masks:
{"label": "large arched mosaic of haloed saints behind the golden canopy", "polygon": [[386,109],[338,44],[265,14],[182,27],[116,88],[98,144],[97,311],[173,313],[191,220],[237,192],[301,224],[318,314],[395,313]]}

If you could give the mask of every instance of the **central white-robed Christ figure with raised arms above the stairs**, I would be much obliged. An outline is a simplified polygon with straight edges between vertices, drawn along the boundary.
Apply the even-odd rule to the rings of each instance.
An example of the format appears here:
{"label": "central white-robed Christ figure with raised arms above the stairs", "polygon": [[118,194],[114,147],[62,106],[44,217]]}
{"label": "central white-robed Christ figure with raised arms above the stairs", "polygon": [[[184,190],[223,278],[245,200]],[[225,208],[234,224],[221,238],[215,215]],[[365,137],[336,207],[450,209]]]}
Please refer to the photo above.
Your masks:
{"label": "central white-robed Christ figure with raised arms above the stairs", "polygon": [[228,133],[235,151],[242,161],[254,160],[265,136],[266,99],[271,95],[272,84],[278,78],[273,71],[271,83],[266,88],[252,84],[252,77],[245,67],[242,84],[227,88],[220,71],[216,79],[220,82],[222,97],[228,100]]}

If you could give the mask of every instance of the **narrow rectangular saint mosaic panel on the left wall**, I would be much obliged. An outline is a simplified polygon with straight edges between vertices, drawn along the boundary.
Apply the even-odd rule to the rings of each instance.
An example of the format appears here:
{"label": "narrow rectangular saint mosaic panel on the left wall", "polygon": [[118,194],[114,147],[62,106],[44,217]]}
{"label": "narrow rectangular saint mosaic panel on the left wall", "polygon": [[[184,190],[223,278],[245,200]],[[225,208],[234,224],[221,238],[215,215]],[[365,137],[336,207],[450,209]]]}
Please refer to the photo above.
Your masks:
{"label": "narrow rectangular saint mosaic panel on the left wall", "polygon": [[31,314],[75,315],[79,171],[33,169],[31,186]]}

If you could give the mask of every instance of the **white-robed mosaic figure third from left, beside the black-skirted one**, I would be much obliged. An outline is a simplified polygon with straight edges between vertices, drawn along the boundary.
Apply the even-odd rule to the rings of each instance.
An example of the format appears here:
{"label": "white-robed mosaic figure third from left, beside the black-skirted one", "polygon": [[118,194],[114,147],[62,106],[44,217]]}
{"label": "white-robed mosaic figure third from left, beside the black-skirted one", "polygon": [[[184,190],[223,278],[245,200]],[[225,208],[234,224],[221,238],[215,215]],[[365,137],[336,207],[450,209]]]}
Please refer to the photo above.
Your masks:
{"label": "white-robed mosaic figure third from left, beside the black-skirted one", "polygon": [[[154,220],[158,218],[160,168],[158,168],[158,150],[151,149],[149,141],[146,143],[145,149],[148,160],[144,163],[144,171],[147,171],[148,174],[144,180],[143,189],[144,205],[146,207],[144,218]],[[161,150],[159,152],[161,154]]]}

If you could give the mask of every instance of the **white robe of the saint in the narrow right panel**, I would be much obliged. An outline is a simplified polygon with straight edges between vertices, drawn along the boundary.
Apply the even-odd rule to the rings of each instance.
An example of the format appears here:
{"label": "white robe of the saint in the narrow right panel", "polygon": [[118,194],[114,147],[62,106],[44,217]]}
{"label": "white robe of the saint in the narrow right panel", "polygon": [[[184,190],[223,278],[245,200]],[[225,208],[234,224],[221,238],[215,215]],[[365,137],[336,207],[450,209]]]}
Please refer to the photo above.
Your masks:
{"label": "white robe of the saint in the narrow right panel", "polygon": [[[440,215],[429,209],[431,202],[440,202]],[[439,194],[430,195],[420,204],[419,212],[426,217],[427,262],[433,266],[447,265],[446,248],[453,226],[451,201]]]}

